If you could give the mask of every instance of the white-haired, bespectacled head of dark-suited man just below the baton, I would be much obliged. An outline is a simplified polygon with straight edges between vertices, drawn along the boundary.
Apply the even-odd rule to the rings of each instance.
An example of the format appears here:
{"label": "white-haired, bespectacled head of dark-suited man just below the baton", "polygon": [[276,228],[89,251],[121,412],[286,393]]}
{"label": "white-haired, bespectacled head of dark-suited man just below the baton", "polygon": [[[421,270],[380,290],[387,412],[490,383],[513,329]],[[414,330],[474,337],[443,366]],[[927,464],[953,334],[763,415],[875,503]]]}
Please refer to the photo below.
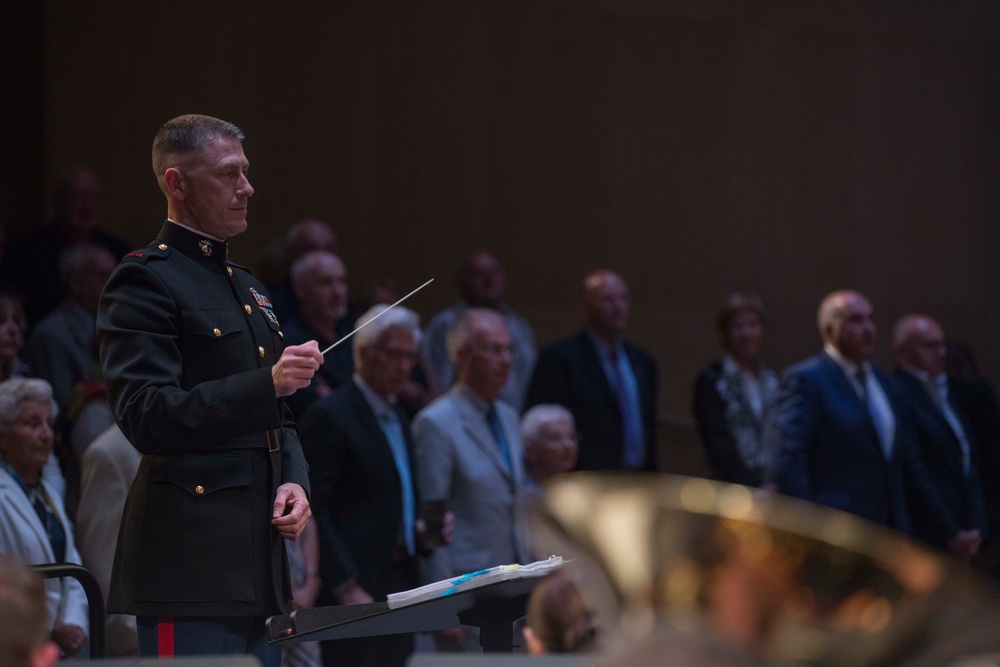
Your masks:
{"label": "white-haired, bespectacled head of dark-suited man just below the baton", "polygon": [[388,308],[380,303],[366,311],[359,322],[376,319],[354,334],[354,367],[384,400],[399,394],[410,379],[421,338],[419,315],[403,306]]}

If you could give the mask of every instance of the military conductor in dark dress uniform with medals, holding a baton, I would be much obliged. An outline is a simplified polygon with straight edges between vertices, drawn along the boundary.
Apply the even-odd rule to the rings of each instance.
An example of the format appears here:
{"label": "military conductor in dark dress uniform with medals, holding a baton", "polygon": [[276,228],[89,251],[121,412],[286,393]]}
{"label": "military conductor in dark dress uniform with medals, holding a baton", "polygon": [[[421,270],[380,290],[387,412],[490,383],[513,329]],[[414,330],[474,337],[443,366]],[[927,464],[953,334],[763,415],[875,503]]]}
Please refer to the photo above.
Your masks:
{"label": "military conductor in dark dress uniform with medals, holding a baton", "polygon": [[243,138],[209,116],[160,128],[153,170],[167,221],[101,300],[111,408],[143,454],[108,608],[138,617],[143,656],[252,653],[277,665],[264,620],[290,611],[282,538],[311,516],[284,397],[323,359],[314,341],[284,346],[264,287],[228,261],[253,195]]}

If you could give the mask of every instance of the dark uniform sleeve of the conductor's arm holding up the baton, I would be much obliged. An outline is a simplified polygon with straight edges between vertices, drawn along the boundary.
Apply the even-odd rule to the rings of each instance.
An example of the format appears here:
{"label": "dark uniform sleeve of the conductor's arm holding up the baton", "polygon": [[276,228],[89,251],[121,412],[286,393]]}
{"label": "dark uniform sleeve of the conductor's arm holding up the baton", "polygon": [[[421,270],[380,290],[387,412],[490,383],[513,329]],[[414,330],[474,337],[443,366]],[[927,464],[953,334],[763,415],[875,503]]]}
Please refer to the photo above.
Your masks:
{"label": "dark uniform sleeve of the conductor's arm holding up the baton", "polygon": [[184,386],[181,322],[170,291],[149,267],[126,261],[115,270],[101,299],[98,336],[112,411],[136,448],[204,450],[282,428],[270,367]]}

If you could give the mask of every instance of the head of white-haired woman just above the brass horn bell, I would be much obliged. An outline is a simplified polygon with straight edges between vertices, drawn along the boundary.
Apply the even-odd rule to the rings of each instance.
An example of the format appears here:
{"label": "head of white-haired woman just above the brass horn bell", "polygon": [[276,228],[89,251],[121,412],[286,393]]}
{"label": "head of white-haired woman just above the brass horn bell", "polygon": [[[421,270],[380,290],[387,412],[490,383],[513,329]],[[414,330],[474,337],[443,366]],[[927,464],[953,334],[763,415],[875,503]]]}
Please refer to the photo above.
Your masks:
{"label": "head of white-haired woman just above the brass horn bell", "polygon": [[521,441],[525,468],[539,484],[576,465],[576,426],[573,414],[561,405],[543,403],[524,413]]}

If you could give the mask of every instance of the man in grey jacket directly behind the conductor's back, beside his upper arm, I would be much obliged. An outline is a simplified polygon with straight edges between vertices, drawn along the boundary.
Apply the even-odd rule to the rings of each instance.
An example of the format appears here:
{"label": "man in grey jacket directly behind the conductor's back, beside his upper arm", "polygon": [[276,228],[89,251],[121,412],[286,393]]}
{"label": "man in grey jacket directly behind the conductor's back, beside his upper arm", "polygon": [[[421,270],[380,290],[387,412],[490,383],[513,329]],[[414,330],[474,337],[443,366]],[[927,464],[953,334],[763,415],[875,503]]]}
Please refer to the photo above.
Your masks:
{"label": "man in grey jacket directly behind the conductor's back, beside his upper arm", "polygon": [[35,326],[27,356],[32,372],[52,385],[60,410],[78,382],[99,373],[97,306],[117,263],[106,247],[91,242],[68,248],[59,258],[66,298]]}

